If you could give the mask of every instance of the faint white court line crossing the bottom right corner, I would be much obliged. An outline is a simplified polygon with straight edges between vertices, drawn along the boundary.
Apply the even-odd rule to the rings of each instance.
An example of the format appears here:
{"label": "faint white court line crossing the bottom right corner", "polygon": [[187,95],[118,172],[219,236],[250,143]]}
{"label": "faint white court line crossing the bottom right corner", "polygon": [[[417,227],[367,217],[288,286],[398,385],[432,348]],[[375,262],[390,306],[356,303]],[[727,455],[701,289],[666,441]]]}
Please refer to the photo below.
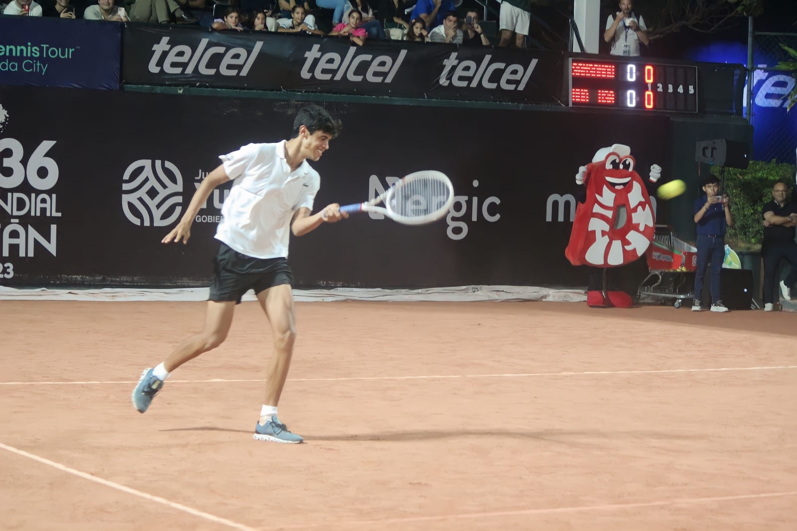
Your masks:
{"label": "faint white court line crossing the bottom right corner", "polygon": [[[421,516],[406,518],[385,518],[383,520],[355,520],[340,522],[341,525],[389,525],[389,524],[410,524],[422,521],[442,521],[442,520],[465,520],[475,518],[491,517],[512,517],[528,516],[536,514],[556,514],[556,513],[584,513],[587,511],[611,511],[615,509],[640,509],[644,507],[657,507],[666,505],[686,505],[690,503],[717,503],[720,501],[752,500],[756,498],[783,498],[786,496],[797,496],[797,490],[791,492],[769,492],[764,494],[741,494],[739,496],[717,496],[713,498],[681,498],[662,501],[642,501],[639,503],[612,503],[607,505],[575,505],[574,507],[552,507],[548,509],[520,509],[516,511],[497,511],[493,513],[462,513],[462,514],[441,514],[437,516]],[[311,525],[281,525],[281,529],[310,529],[314,527],[327,527],[325,524]]]}

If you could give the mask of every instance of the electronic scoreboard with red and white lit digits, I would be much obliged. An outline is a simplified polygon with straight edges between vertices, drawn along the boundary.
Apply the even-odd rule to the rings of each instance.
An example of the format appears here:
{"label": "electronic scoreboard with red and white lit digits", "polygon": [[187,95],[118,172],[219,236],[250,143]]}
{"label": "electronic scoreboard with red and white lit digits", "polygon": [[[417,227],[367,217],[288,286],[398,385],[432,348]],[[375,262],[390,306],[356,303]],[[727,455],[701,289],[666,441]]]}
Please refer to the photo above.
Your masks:
{"label": "electronic scoreboard with red and white lit digits", "polygon": [[697,66],[647,61],[568,61],[571,107],[697,112]]}

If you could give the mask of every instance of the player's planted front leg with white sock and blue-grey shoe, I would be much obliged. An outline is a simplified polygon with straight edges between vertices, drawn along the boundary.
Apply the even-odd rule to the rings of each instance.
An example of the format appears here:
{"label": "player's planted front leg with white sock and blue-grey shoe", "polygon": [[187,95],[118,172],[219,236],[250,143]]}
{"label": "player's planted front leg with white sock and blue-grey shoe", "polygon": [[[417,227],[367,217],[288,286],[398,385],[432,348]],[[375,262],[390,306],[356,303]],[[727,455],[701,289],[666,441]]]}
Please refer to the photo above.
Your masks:
{"label": "player's planted front leg with white sock and blue-grey shoe", "polygon": [[255,439],[277,443],[301,443],[299,435],[291,433],[277,417],[277,404],[288,379],[296,341],[296,321],[293,317],[293,293],[288,284],[276,285],[257,293],[257,301],[269,317],[274,336],[274,350],[266,372],[265,397],[260,422],[255,427]]}

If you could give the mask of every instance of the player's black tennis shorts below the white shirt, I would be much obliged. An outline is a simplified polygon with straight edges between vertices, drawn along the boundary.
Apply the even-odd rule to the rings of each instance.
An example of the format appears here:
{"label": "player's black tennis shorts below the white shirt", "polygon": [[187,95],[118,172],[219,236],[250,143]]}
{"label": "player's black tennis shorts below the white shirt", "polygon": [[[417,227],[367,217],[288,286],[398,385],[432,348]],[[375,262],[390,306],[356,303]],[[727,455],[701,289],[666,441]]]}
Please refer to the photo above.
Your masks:
{"label": "player's black tennis shorts below the white shirt", "polygon": [[235,301],[249,289],[260,293],[275,285],[293,286],[293,273],[285,258],[253,258],[230,249],[222,242],[213,259],[213,280],[210,281],[209,301]]}

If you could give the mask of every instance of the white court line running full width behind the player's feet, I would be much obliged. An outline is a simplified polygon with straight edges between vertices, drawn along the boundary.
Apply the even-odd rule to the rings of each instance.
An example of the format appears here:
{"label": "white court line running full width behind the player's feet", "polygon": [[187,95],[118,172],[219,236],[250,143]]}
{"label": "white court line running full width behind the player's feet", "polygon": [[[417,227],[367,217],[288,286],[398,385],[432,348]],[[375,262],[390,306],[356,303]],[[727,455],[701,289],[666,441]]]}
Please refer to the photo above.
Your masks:
{"label": "white court line running full width behind the player's feet", "polygon": [[[524,372],[517,374],[452,374],[430,376],[344,376],[341,378],[289,378],[289,382],[348,382],[356,380],[441,380],[455,378],[533,378],[537,376],[595,376],[619,374],[670,374],[676,372],[731,372],[731,371],[775,371],[780,369],[795,369],[797,365],[779,365],[774,367],[727,367],[727,368],[702,368],[702,369],[654,369],[650,371],[585,371],[585,372]],[[249,380],[225,380],[211,378],[210,380],[168,380],[169,384],[241,384],[247,382],[265,382],[263,378]],[[0,382],[0,385],[110,385],[110,384],[138,384],[139,380],[109,380],[109,381],[84,381],[84,382]]]}

